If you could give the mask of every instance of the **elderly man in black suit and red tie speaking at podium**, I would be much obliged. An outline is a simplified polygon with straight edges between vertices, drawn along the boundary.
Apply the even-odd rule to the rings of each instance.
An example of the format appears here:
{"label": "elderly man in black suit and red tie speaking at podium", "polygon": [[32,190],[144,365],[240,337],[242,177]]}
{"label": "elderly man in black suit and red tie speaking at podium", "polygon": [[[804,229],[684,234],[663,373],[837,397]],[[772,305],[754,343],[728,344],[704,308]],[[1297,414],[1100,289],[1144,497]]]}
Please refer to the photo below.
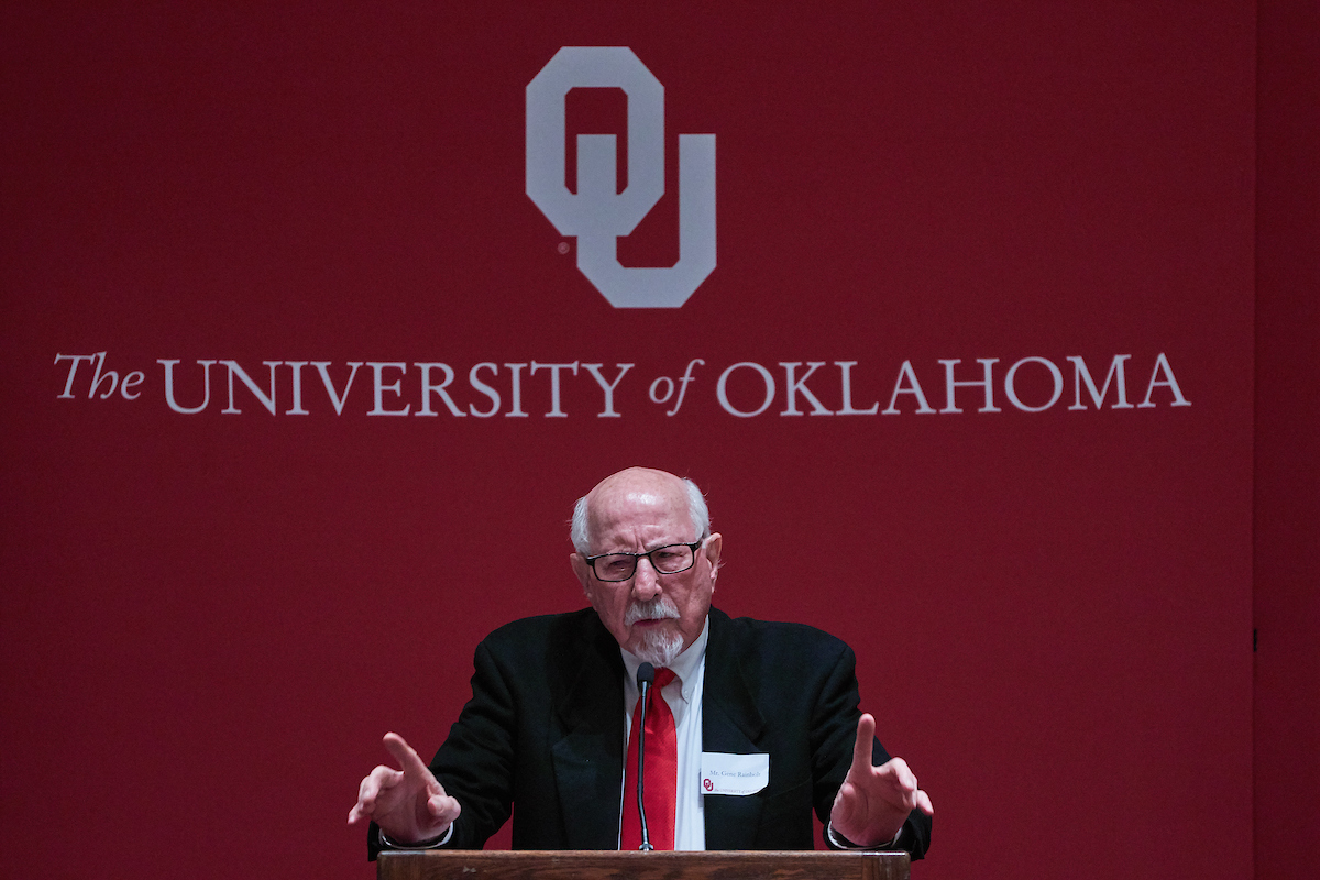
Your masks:
{"label": "elderly man in black suit and red tie speaking at podium", "polygon": [[473,698],[428,768],[395,734],[401,769],[363,781],[348,825],[368,850],[479,848],[511,806],[513,847],[638,848],[638,670],[645,819],[656,848],[929,846],[931,798],[858,711],[853,652],[810,627],[710,607],[722,538],[690,480],[606,478],[573,515],[573,573],[590,610],[502,627],[477,648]]}

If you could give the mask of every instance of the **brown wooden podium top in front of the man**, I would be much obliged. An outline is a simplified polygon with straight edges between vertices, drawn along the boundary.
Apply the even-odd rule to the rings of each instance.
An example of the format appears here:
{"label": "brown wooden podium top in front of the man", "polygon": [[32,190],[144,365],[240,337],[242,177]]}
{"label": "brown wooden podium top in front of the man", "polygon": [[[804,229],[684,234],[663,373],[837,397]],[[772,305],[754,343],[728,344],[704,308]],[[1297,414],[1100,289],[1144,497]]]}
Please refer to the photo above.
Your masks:
{"label": "brown wooden podium top in front of the man", "polygon": [[908,880],[907,852],[381,852],[378,880]]}

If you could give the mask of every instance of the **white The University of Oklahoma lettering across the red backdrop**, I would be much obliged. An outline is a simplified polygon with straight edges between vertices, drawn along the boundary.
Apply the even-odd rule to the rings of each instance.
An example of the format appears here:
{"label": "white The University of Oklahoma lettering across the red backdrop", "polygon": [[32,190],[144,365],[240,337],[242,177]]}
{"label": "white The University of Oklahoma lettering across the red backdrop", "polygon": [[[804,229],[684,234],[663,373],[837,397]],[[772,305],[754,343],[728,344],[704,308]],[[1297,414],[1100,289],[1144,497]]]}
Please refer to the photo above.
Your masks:
{"label": "white The University of Oklahoma lettering across the red backdrop", "polygon": [[[1107,364],[1107,372],[1102,377],[1104,381],[1098,383],[1097,373],[1092,372],[1082,356],[1068,356],[1068,360],[1072,363],[1073,372],[1073,400],[1072,405],[1068,405],[1067,409],[1072,412],[1085,412],[1092,408],[1098,412],[1102,412],[1106,408],[1154,409],[1156,406],[1155,394],[1158,393],[1158,389],[1167,389],[1166,405],[1192,405],[1183,393],[1179,380],[1173,375],[1172,364],[1164,352],[1155,356],[1144,400],[1142,400],[1140,404],[1134,405],[1135,400],[1129,398],[1126,387],[1126,367],[1127,361],[1131,359],[1133,355],[1127,354],[1113,355]],[[104,351],[88,355],[55,355],[54,363],[57,369],[59,364],[65,364],[66,361],[67,367],[63,376],[65,381],[62,391],[57,393],[57,398],[59,400],[77,400],[83,398],[84,396],[87,400],[107,400],[117,394],[124,400],[135,401],[143,397],[143,389],[147,384],[148,373],[141,369],[128,371],[117,361],[117,369],[110,369],[108,355]],[[325,387],[326,394],[338,416],[342,416],[345,412],[348,396],[352,391],[354,383],[356,381],[358,371],[363,365],[370,365],[372,373],[372,402],[370,410],[367,410],[364,405],[360,405],[360,414],[416,414],[436,417],[441,413],[447,413],[455,418],[465,418],[467,416],[491,418],[500,413],[506,417],[527,418],[531,409],[540,409],[545,418],[568,418],[570,416],[568,413],[568,408],[573,405],[573,401],[568,400],[566,396],[572,397],[573,393],[586,393],[590,396],[590,391],[583,392],[581,387],[574,391],[572,387],[566,387],[566,383],[573,380],[566,377],[565,373],[578,377],[583,371],[590,373],[595,385],[601,389],[601,406],[597,410],[595,417],[622,418],[622,409],[626,408],[627,401],[620,397],[619,391],[623,388],[623,383],[627,376],[632,375],[632,371],[639,367],[636,363],[615,363],[614,373],[607,375],[606,364],[602,361],[583,363],[573,360],[561,363],[541,363],[531,360],[525,363],[504,364],[482,361],[471,365],[467,371],[467,384],[465,385],[458,379],[461,375],[458,369],[442,361],[263,360],[261,364],[267,368],[268,375],[265,381],[259,381],[255,375],[249,375],[238,360],[197,360],[189,363],[197,363],[202,367],[201,404],[197,406],[185,406],[177,400],[178,389],[176,388],[174,381],[177,377],[176,367],[182,361],[177,359],[160,359],[156,363],[161,364],[164,368],[164,391],[166,404],[173,412],[182,414],[201,413],[210,406],[210,367],[214,364],[222,364],[226,368],[228,397],[224,408],[220,410],[223,414],[242,414],[243,410],[238,402],[240,393],[235,392],[235,388],[239,385],[246,387],[248,393],[251,393],[268,413],[272,416],[279,414],[277,389],[280,388],[280,377],[285,375],[280,372],[279,367],[281,364],[288,364],[290,385],[285,393],[292,394],[292,402],[282,414],[308,416],[310,413],[306,406],[306,401],[304,400],[302,375],[304,368],[308,364],[312,364],[321,376],[321,384]],[[335,363],[339,365],[334,365]],[[981,372],[981,377],[975,380],[968,380],[958,375],[957,368],[964,363],[962,360],[941,359],[937,363],[944,367],[945,405],[942,409],[937,410],[932,406],[928,396],[925,394],[912,361],[903,360],[891,387],[888,404],[884,409],[880,409],[880,402],[878,400],[873,401],[870,405],[862,406],[858,406],[854,401],[855,388],[853,384],[853,371],[859,363],[863,361],[783,360],[776,363],[784,371],[785,388],[783,406],[779,412],[780,416],[898,416],[900,413],[962,413],[965,409],[960,408],[960,402],[966,406],[966,392],[964,392],[964,401],[957,400],[957,393],[960,388],[968,387],[979,389],[983,396],[983,400],[977,401],[979,406],[975,412],[1003,412],[995,405],[994,400],[995,392],[1001,391],[1003,393],[1003,398],[1007,400],[1011,408],[1023,413],[1043,413],[1059,405],[1067,393],[1067,376],[1064,375],[1064,368],[1049,358],[1026,356],[1016,360],[1006,359],[1005,361],[1001,361],[998,358],[978,358],[975,359],[975,363],[981,364],[981,369],[978,371]],[[833,371],[821,369],[830,363],[838,368],[837,375]],[[994,375],[994,367],[998,363],[1010,364],[1003,371],[1002,385],[999,385]],[[87,372],[81,372],[84,364],[88,364],[90,369]],[[653,377],[647,388],[649,400],[653,404],[661,405],[661,409],[668,409],[665,413],[667,417],[676,416],[686,401],[689,385],[696,381],[697,368],[704,367],[706,361],[704,359],[693,358],[688,360],[681,376],[673,375]],[[412,367],[417,368],[417,373],[411,372]],[[508,391],[500,387],[503,384],[500,377],[502,368],[508,369]],[[345,383],[342,388],[338,387],[335,384],[337,380],[331,377],[333,372],[341,371],[345,373]],[[539,394],[545,387],[539,384],[535,379],[543,372],[549,373],[549,396],[544,406],[541,405]],[[744,373],[755,373],[755,376],[759,377],[759,381],[756,377]],[[1052,388],[1045,384],[1047,373],[1049,381],[1052,383]],[[418,383],[417,387],[409,384],[414,381],[414,375],[416,381]],[[863,383],[865,385],[870,384],[869,375],[870,371],[863,373],[863,379],[867,380]],[[524,409],[523,405],[524,376],[531,376],[527,383],[529,383],[529,393],[536,398],[528,400],[527,409]],[[830,391],[830,383],[834,381],[836,376],[838,388],[836,391]],[[812,385],[813,379],[816,383],[814,387]],[[84,384],[81,385],[79,383]],[[995,385],[999,387],[995,388]],[[420,394],[414,397],[413,394],[417,392],[420,392]],[[185,392],[185,396],[186,393],[187,392]],[[867,387],[859,393],[865,401],[875,392]],[[973,391],[972,393],[977,392]],[[751,360],[725,367],[722,372],[718,373],[718,380],[715,383],[715,397],[721,409],[737,418],[754,418],[768,413],[776,404],[776,394],[777,384],[775,375],[767,367]],[[385,400],[387,396],[392,396],[388,402]],[[484,409],[473,402],[477,397],[482,396],[486,397]],[[909,396],[912,398],[912,405],[908,408],[899,406],[899,401],[904,396]],[[836,400],[841,404],[841,406],[840,409],[832,412],[829,406],[824,404],[824,400]],[[504,408],[506,402],[508,404],[507,409]],[[444,406],[441,406],[441,404],[444,404]],[[705,404],[702,402],[701,405]],[[251,402],[248,404],[248,410],[251,412]],[[972,408],[966,406],[966,412],[970,410]]]}

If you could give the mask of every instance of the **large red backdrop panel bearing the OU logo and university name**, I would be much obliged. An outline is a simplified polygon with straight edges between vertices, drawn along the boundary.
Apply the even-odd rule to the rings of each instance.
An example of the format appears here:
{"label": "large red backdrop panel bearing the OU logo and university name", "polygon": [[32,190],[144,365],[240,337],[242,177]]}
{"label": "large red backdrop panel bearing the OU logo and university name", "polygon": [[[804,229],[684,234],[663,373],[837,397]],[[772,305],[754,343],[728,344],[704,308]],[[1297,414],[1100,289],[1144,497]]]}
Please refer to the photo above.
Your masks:
{"label": "large red backdrop panel bearing the OU logo and university name", "polygon": [[[939,810],[916,875],[1250,873],[1250,4],[0,32],[0,873],[368,876],[380,735],[430,752],[482,635],[579,607],[570,505],[632,463],[708,491],[719,607],[857,649]],[[576,45],[665,88],[626,265],[677,257],[715,136],[681,309],[611,307],[524,191]],[[574,92],[569,142],[624,113]],[[585,364],[632,364],[612,406]]]}

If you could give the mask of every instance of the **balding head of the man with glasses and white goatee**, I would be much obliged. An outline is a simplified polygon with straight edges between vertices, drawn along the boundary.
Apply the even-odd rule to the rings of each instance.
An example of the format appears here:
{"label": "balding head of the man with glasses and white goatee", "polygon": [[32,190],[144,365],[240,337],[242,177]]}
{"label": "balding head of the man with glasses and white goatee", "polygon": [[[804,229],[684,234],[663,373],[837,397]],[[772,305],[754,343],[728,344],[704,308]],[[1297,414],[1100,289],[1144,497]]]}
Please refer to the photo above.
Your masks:
{"label": "balding head of the man with glasses and white goatee", "polygon": [[[618,643],[643,660],[664,666],[701,635],[715,591],[722,538],[710,533],[705,499],[692,480],[644,467],[605,478],[573,511],[573,573],[601,623]],[[609,581],[593,557],[649,553],[697,544],[690,569],[664,574],[651,558],[636,559],[624,581]],[[686,559],[685,548],[667,558]],[[624,559],[624,563],[628,561]],[[667,563],[661,561],[661,567]],[[626,571],[626,565],[624,565]]]}

